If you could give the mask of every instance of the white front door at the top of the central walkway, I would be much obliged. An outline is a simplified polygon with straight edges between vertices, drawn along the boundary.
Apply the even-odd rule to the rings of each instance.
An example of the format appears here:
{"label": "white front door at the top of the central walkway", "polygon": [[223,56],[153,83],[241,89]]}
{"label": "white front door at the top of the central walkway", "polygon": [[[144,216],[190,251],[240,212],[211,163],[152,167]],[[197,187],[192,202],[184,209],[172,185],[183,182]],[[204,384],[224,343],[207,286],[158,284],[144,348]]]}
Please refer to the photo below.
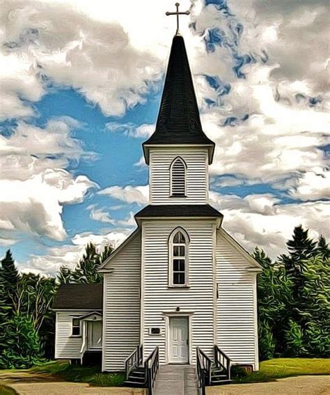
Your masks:
{"label": "white front door at the top of the central walkway", "polygon": [[169,360],[170,364],[189,362],[188,317],[170,318]]}

